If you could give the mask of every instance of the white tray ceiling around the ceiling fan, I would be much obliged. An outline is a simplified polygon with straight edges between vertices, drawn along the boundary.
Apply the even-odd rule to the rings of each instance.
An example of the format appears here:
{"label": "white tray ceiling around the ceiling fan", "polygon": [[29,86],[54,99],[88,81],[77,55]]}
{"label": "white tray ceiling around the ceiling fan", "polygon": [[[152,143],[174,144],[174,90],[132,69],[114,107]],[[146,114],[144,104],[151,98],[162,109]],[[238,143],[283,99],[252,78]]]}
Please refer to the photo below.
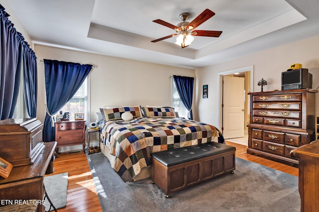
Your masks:
{"label": "white tray ceiling around the ceiling fan", "polygon": [[[8,0],[34,43],[126,59],[196,69],[319,35],[318,0]],[[174,30],[179,14],[193,20],[216,14],[181,49],[175,38],[152,43]]]}

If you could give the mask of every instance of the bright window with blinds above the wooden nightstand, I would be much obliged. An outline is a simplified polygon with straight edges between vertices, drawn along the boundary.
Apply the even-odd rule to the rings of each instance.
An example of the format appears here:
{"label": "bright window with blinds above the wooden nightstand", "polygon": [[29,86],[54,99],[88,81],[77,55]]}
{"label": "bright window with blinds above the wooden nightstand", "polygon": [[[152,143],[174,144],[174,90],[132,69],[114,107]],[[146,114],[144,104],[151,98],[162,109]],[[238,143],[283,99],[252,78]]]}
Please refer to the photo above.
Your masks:
{"label": "bright window with blinds above the wooden nightstand", "polygon": [[88,78],[84,80],[83,84],[76,91],[74,96],[63,106],[62,113],[69,112],[70,120],[75,119],[76,113],[84,113],[84,119],[87,119],[88,107]]}

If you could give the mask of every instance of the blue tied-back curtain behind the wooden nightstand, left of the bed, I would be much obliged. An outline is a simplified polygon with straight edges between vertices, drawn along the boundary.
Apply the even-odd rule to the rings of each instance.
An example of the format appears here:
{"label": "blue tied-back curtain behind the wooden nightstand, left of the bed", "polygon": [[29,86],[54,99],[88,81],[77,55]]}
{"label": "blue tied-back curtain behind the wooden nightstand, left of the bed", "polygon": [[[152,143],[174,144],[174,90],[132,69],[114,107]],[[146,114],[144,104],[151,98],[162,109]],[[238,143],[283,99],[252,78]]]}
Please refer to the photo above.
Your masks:
{"label": "blue tied-back curtain behind the wooden nightstand, left of the bed", "polygon": [[76,93],[92,65],[81,65],[44,59],[46,109],[43,126],[43,141],[55,141],[52,116],[56,114]]}

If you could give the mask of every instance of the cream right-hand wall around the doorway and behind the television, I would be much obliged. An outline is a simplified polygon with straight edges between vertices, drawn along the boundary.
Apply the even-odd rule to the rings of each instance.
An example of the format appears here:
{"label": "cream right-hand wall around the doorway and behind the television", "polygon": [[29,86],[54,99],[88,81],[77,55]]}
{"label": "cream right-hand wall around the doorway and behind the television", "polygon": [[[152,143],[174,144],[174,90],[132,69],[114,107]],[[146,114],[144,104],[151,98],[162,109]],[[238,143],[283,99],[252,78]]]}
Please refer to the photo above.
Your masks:
{"label": "cream right-hand wall around the doorway and behind the television", "polygon": [[[281,90],[281,72],[287,71],[292,64],[303,64],[313,74],[313,88],[319,86],[319,36],[298,41],[288,45],[238,58],[225,63],[201,68],[195,71],[196,77],[196,117],[201,122],[219,127],[218,117],[218,72],[254,66],[254,87],[260,91],[257,82],[264,78],[268,85],[264,91]],[[201,97],[202,85],[208,84],[208,98]],[[316,114],[319,114],[319,94],[316,93]]]}

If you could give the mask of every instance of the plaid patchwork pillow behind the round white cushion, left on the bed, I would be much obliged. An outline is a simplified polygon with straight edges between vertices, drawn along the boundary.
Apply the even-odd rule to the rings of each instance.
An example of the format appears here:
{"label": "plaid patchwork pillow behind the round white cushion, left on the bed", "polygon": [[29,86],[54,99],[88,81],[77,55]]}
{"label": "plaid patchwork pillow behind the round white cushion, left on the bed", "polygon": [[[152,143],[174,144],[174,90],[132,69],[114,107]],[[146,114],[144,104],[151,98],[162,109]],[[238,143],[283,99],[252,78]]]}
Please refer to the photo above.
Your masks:
{"label": "plaid patchwork pillow behind the round white cushion, left on the bed", "polygon": [[103,121],[114,121],[121,120],[121,116],[124,112],[129,111],[133,115],[133,119],[142,117],[140,106],[127,106],[127,107],[113,107],[113,108],[100,108],[100,111],[103,116]]}

